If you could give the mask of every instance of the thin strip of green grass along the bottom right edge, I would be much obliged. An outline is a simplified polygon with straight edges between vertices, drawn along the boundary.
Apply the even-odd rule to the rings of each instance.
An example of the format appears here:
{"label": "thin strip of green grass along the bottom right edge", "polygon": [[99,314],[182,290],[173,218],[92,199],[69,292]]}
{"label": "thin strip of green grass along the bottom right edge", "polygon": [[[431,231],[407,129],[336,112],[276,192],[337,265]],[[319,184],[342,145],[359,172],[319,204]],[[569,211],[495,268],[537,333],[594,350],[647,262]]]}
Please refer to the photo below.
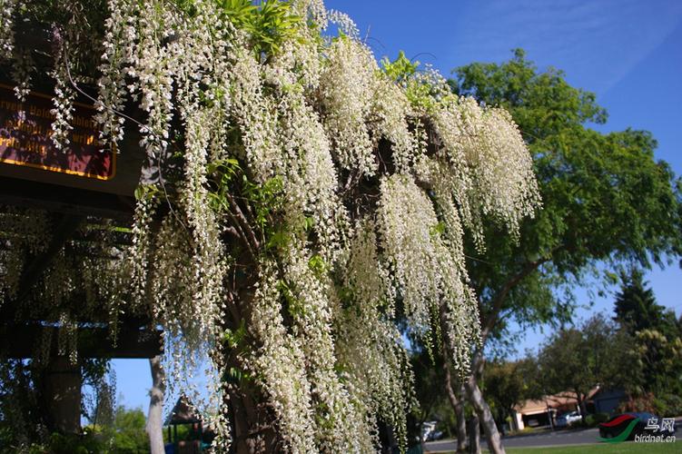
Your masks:
{"label": "thin strip of green grass along the bottom right edge", "polygon": [[[509,454],[628,454],[646,452],[667,454],[682,451],[682,443],[599,443],[594,445],[559,446],[557,448],[507,448]],[[488,452],[484,450],[483,452]],[[453,453],[454,454],[454,453]]]}

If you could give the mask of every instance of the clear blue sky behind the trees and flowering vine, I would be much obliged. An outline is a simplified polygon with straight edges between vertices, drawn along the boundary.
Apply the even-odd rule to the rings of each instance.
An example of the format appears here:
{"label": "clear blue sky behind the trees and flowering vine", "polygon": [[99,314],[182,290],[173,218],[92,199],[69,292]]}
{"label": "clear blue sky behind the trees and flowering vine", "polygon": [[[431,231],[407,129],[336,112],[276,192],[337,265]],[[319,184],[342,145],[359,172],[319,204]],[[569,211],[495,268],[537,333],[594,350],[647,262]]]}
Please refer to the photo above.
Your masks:
{"label": "clear blue sky behind the trees and flowering vine", "polygon": [[[597,94],[608,123],[651,131],[657,158],[682,174],[682,1],[677,0],[353,0],[327,1],[357,23],[377,58],[400,50],[448,75],[472,62],[502,62],[524,48],[539,68],[555,66],[569,84]],[[682,234],[682,232],[680,232]],[[682,271],[677,264],[647,273],[659,304],[682,313]],[[617,289],[612,289],[613,291]],[[611,311],[613,296],[592,299],[578,289],[578,311]],[[549,331],[530,331],[519,350]],[[146,360],[117,360],[121,403],[146,411],[151,386]]]}

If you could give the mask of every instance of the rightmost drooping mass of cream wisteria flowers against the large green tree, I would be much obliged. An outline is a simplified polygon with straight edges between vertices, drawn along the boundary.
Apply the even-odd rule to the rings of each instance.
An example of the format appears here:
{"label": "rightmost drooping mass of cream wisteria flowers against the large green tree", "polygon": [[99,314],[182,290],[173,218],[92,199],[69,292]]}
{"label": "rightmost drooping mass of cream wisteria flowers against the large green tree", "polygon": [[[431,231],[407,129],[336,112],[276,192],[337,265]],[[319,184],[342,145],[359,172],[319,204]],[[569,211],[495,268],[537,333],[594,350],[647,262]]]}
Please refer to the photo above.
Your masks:
{"label": "rightmost drooping mass of cream wisteria flowers against the large green tree", "polygon": [[[490,217],[518,235],[521,219],[539,206],[539,191],[517,126],[502,109],[484,109],[472,98],[448,98],[431,116],[442,141],[440,156],[425,163],[422,176],[440,180],[437,184],[455,194],[463,221],[479,245],[483,244],[481,222]],[[439,157],[457,172],[434,169],[440,165]]]}

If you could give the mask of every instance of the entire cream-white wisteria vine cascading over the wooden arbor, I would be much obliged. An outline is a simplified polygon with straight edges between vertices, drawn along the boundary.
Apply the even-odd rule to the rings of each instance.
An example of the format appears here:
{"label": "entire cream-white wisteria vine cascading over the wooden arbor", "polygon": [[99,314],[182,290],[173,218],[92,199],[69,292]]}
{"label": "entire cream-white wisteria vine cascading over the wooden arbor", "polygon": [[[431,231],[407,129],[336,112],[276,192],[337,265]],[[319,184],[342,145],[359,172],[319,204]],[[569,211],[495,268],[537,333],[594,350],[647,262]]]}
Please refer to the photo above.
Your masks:
{"label": "entire cream-white wisteria vine cascading over the wooden arbor", "polygon": [[[190,362],[209,351],[225,444],[368,452],[381,420],[404,447],[412,378],[398,321],[427,341],[443,331],[465,373],[479,317],[463,235],[480,242],[483,215],[518,234],[539,206],[529,153],[509,114],[451,94],[433,70],[381,68],[346,15],[274,3],[107,2],[89,74],[103,140],[130,133],[134,102],[162,173],[138,192],[118,259],[130,285],[108,300],[149,308]],[[64,49],[85,58],[71,35]],[[68,100],[78,65],[57,56]]]}

